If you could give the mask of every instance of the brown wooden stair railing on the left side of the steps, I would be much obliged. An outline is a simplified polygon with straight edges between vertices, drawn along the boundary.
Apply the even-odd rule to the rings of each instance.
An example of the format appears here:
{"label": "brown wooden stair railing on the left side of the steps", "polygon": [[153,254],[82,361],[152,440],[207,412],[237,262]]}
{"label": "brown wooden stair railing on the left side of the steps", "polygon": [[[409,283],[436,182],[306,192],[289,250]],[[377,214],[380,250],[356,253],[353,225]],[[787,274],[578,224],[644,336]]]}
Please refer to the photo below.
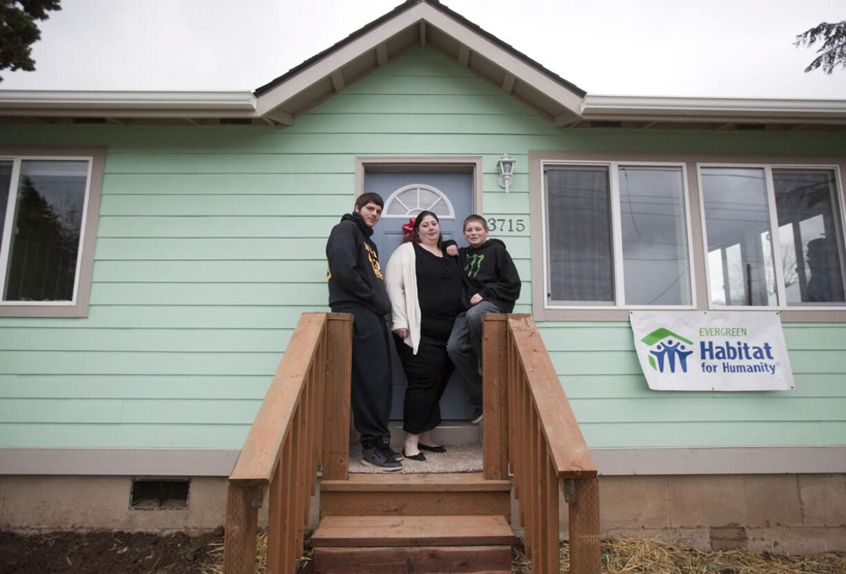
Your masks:
{"label": "brown wooden stair railing on the left side of the steps", "polygon": [[352,315],[304,313],[229,476],[224,574],[255,572],[259,508],[269,501],[267,569],[294,572],[324,479],[346,479]]}

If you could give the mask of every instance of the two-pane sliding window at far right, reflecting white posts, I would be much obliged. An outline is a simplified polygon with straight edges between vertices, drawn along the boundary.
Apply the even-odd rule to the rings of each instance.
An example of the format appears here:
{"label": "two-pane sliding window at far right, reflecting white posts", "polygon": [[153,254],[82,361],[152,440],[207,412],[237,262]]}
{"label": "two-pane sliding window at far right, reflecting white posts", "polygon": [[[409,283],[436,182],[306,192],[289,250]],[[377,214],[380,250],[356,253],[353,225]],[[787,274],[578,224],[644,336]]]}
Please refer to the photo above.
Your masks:
{"label": "two-pane sliding window at far right, reflecting white posts", "polygon": [[711,306],[842,306],[834,170],[703,166],[700,178]]}

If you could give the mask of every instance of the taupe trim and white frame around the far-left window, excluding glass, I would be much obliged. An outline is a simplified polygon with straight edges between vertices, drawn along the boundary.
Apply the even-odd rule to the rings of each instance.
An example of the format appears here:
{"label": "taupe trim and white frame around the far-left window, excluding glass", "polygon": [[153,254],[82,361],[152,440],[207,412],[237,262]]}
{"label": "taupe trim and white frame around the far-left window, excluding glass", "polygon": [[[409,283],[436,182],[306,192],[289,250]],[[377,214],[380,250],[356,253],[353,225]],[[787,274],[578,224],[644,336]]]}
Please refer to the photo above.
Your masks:
{"label": "taupe trim and white frame around the far-left window, excluding glass", "polygon": [[20,166],[24,161],[85,161],[88,163],[85,182],[85,203],[80,225],[80,249],[77,252],[74,276],[74,295],[71,301],[0,301],[0,317],[87,317],[91,296],[91,276],[94,267],[96,224],[100,212],[102,192],[103,148],[0,148],[0,159],[12,161],[12,180],[9,189],[3,237],[0,238],[0,293],[3,293],[8,266],[8,250],[14,221],[15,199],[18,194]]}

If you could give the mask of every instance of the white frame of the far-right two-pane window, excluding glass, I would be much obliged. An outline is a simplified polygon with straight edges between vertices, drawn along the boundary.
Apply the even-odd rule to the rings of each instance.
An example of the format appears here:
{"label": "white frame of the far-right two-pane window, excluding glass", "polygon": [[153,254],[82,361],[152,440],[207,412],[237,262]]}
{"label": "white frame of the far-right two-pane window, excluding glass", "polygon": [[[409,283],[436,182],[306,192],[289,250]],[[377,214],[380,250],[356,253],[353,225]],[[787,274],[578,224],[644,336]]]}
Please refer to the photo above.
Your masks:
{"label": "white frame of the far-right two-pane window, excluding glass", "polygon": [[[834,172],[835,179],[835,193],[838,196],[838,215],[840,217],[840,245],[846,246],[846,212],[843,211],[843,179],[841,178],[840,168],[836,163],[730,163],[730,162],[697,162],[696,163],[696,181],[700,190],[700,222],[702,229],[702,246],[705,248],[705,279],[706,279],[706,301],[708,309],[711,311],[846,311],[846,302],[830,303],[828,305],[809,305],[807,303],[801,305],[788,305],[787,294],[784,288],[784,271],[781,265],[775,262],[783,261],[781,242],[775,239],[772,240],[772,258],[773,268],[776,272],[776,296],[778,300],[777,305],[715,305],[711,303],[711,269],[708,262],[708,230],[705,218],[705,201],[701,198],[702,190],[702,168],[750,168],[763,169],[764,181],[766,185],[766,203],[770,218],[770,234],[772,238],[778,237],[778,214],[776,212],[776,193],[775,185],[772,179],[773,169],[808,169],[825,171],[831,170]],[[843,252],[839,253],[841,258],[841,274],[846,271],[843,267]],[[843,278],[843,284],[846,286],[846,277]]]}

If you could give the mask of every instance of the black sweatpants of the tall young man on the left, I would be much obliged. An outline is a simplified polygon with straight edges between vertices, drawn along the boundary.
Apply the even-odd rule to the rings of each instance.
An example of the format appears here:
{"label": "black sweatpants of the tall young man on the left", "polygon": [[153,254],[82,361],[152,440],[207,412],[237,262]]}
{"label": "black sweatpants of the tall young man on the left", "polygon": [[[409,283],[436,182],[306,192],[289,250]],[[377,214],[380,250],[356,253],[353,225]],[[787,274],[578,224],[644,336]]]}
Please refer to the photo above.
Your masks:
{"label": "black sweatpants of the tall young man on the left", "polygon": [[353,314],[353,368],[350,403],[353,424],[367,448],[381,437],[390,438],[391,416],[390,346],[384,317],[364,306],[337,306],[333,312]]}

